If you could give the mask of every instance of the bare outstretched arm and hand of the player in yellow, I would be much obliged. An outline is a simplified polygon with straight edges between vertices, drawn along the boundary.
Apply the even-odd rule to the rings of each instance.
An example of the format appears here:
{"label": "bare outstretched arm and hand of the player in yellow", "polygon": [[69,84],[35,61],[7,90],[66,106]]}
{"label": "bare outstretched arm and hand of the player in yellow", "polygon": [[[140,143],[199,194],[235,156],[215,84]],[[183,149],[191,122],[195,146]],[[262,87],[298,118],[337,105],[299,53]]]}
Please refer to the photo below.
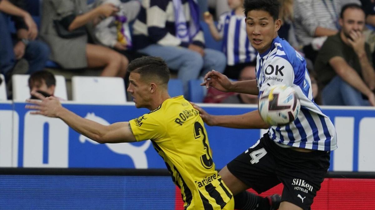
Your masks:
{"label": "bare outstretched arm and hand of the player in yellow", "polygon": [[26,105],[27,109],[36,111],[31,114],[40,114],[47,117],[56,117],[62,119],[72,129],[81,133],[88,138],[99,143],[121,143],[135,142],[135,136],[132,133],[129,122],[114,123],[109,126],[87,120],[64,108],[60,101],[55,97],[45,98],[42,94],[32,92],[31,95],[36,96],[42,101],[28,99],[27,102],[33,105]]}

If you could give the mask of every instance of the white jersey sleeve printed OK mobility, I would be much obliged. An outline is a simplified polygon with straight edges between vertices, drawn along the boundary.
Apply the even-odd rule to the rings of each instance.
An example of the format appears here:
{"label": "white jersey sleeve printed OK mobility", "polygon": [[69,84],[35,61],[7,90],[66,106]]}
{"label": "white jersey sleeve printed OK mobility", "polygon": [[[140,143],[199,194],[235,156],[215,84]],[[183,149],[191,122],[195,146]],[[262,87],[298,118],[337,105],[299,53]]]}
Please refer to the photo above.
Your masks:
{"label": "white jersey sleeve printed OK mobility", "polygon": [[292,86],[294,81],[294,69],[291,63],[280,56],[275,56],[270,62],[267,62],[264,71],[262,72],[262,86],[260,92],[263,92],[267,87],[276,84],[285,84]]}

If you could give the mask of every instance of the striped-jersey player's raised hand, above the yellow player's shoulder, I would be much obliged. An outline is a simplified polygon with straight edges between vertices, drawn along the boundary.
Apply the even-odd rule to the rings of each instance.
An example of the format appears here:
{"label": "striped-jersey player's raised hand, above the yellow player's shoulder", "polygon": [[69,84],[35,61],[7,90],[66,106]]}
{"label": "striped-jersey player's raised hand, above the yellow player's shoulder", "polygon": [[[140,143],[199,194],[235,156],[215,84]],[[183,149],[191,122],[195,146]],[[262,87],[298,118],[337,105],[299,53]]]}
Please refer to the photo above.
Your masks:
{"label": "striped-jersey player's raised hand, above the yellow player's shoulder", "polygon": [[228,77],[215,70],[204,75],[204,82],[201,83],[201,86],[206,86],[206,89],[211,86],[222,92],[230,92],[231,85],[232,83]]}

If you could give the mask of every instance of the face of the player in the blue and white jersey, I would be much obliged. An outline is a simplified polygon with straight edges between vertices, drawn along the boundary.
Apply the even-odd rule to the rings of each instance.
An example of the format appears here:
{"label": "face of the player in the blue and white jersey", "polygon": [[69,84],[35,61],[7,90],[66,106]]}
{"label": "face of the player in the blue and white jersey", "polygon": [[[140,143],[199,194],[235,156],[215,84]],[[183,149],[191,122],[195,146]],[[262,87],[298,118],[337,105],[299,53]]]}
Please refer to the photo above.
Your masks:
{"label": "face of the player in the blue and white jersey", "polygon": [[246,33],[251,45],[259,53],[266,52],[277,36],[281,26],[280,19],[274,21],[269,12],[264,10],[250,10],[246,16]]}

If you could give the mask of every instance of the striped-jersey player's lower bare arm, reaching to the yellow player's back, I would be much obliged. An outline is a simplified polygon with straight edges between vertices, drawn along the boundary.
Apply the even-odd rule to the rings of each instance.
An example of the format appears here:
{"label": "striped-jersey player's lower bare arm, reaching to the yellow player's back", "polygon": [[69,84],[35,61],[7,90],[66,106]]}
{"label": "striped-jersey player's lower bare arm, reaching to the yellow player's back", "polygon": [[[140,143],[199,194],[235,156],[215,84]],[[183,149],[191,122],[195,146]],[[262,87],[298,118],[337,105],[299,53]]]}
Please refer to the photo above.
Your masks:
{"label": "striped-jersey player's lower bare arm, reaching to the yellow player's back", "polygon": [[199,111],[202,120],[209,126],[221,126],[239,129],[268,129],[270,126],[262,120],[257,110],[240,115],[210,115],[198,105],[190,102]]}

